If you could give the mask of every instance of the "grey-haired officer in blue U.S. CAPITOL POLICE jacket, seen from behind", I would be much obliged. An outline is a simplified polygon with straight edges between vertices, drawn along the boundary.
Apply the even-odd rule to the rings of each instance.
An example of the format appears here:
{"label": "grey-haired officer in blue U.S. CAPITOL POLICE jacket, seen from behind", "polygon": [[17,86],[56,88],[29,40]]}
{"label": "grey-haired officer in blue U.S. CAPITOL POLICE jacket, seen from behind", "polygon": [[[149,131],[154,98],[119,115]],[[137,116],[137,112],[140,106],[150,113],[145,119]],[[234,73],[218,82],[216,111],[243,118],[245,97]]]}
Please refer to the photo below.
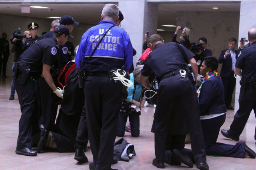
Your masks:
{"label": "grey-haired officer in blue U.S. CAPITOL POLICE jacket, seen from behind", "polygon": [[[93,154],[90,170],[110,170],[113,162],[123,85],[120,81],[110,81],[108,72],[122,66],[129,70],[132,65],[130,37],[122,28],[116,27],[118,15],[118,6],[106,4],[102,21],[82,36],[75,57],[76,66],[86,72],[85,108]],[[100,39],[102,41],[97,46]]]}

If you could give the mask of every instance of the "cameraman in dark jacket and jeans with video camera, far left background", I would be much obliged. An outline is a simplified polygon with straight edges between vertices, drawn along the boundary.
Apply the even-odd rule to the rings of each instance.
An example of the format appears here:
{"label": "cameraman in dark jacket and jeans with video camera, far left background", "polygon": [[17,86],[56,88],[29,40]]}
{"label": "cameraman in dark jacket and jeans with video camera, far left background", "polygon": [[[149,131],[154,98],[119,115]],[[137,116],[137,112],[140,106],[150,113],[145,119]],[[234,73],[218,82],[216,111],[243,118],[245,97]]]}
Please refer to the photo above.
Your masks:
{"label": "cameraman in dark jacket and jeans with video camera, far left background", "polygon": [[[26,35],[26,37],[24,37],[23,39],[14,38],[14,37],[12,37],[13,39],[11,38],[12,39],[11,43],[13,44],[11,47],[11,53],[15,52],[13,64],[12,64],[12,68],[11,68],[12,71],[15,67],[15,63],[18,61],[19,57],[24,52],[23,47],[25,45],[27,38],[31,37],[30,31],[24,31],[23,35]],[[11,95],[9,97],[9,100],[14,100],[14,94],[15,94],[15,88],[14,88],[14,84],[13,84],[13,80],[12,80],[11,81]]]}

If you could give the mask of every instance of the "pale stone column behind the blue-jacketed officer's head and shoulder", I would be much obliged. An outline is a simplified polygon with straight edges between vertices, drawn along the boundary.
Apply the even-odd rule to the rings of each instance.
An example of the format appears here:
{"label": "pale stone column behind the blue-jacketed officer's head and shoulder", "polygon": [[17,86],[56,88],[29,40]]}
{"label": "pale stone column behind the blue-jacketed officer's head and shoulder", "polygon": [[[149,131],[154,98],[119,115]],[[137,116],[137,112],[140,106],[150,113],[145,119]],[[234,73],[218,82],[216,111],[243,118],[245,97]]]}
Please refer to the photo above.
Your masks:
{"label": "pale stone column behind the blue-jacketed officer's head and shoulder", "polygon": [[119,10],[124,15],[121,27],[130,35],[133,48],[137,54],[133,57],[134,67],[142,54],[142,45],[146,31],[150,35],[157,33],[158,4],[147,0],[120,0]]}

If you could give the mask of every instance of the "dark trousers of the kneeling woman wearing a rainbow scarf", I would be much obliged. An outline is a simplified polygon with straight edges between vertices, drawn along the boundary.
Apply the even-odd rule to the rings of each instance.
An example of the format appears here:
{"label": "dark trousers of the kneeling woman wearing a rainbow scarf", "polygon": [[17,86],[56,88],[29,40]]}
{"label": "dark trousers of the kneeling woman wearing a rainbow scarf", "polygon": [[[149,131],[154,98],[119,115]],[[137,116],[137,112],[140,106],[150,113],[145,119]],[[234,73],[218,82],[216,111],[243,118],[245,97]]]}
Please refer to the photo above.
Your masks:
{"label": "dark trousers of the kneeling woman wearing a rainbow scarf", "polygon": [[235,145],[216,142],[225,120],[226,114],[201,120],[206,155],[244,158],[245,147],[243,142],[238,142]]}

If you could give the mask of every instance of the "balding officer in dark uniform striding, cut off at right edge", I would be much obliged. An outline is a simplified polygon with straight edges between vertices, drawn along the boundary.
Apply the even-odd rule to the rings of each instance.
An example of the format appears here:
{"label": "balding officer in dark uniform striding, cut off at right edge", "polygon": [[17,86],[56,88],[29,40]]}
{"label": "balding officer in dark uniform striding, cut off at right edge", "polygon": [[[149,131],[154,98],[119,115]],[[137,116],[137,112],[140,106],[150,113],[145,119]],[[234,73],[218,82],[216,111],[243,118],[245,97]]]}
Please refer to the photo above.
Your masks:
{"label": "balding officer in dark uniform striding, cut off at right edge", "polygon": [[[239,52],[236,59],[234,72],[242,76],[239,94],[239,109],[229,130],[221,130],[223,136],[238,141],[252,110],[256,115],[256,28],[248,31],[250,46]],[[254,136],[256,140],[256,135]]]}

